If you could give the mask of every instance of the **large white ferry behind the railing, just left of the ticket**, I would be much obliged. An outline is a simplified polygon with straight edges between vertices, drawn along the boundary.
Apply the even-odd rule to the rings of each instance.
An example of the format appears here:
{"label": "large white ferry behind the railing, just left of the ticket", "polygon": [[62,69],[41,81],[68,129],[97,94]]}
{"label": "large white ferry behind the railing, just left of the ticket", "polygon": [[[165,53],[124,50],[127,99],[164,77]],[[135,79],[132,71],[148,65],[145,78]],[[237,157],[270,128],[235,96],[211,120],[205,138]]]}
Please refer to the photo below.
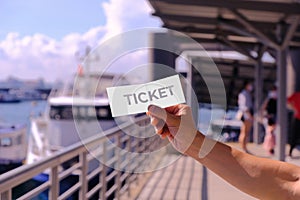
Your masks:
{"label": "large white ferry behind the railing, just left of the ticket", "polygon": [[[105,88],[114,75],[79,70],[62,90],[53,90],[45,112],[31,119],[26,162],[50,156],[116,125]],[[100,80],[100,81],[99,81]]]}

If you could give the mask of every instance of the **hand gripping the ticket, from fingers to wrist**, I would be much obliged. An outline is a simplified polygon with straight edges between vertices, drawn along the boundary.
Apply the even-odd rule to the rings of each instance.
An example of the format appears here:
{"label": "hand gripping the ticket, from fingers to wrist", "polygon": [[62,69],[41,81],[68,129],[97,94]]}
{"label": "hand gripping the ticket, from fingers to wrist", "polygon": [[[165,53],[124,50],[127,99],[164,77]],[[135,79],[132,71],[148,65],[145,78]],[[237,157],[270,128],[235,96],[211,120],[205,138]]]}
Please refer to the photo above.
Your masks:
{"label": "hand gripping the ticket, from fingers to wrist", "polygon": [[150,105],[147,115],[150,116],[157,134],[162,138],[168,137],[179,152],[185,153],[188,150],[197,134],[189,106],[178,104],[163,109]]}

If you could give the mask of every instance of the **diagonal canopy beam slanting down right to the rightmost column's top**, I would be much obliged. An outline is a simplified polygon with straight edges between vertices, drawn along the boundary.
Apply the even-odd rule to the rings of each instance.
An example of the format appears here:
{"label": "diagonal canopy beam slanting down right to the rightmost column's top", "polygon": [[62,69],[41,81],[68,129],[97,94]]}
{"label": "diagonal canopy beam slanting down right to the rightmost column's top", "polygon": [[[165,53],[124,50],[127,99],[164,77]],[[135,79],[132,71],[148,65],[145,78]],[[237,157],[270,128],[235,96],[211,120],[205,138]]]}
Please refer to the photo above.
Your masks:
{"label": "diagonal canopy beam slanting down right to the rightmost column's top", "polygon": [[242,15],[237,10],[230,10],[230,12],[237,18],[237,20],[245,26],[250,32],[253,32],[263,44],[273,47],[275,49],[279,49],[279,45],[272,41],[269,37],[267,37],[263,32],[261,32],[254,24],[246,19],[244,15]]}

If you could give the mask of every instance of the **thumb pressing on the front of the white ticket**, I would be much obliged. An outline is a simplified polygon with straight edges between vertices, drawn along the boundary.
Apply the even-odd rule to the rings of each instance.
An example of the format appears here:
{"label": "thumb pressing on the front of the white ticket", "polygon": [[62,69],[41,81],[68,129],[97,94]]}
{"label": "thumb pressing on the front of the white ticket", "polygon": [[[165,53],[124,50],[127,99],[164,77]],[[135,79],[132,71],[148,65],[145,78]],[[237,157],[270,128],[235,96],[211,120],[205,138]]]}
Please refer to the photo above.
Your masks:
{"label": "thumb pressing on the front of the white ticket", "polygon": [[174,116],[173,114],[167,112],[165,109],[155,106],[155,105],[150,105],[148,107],[148,113],[154,117],[157,117],[159,119],[162,119],[165,121],[168,125],[170,124],[176,124],[177,122],[177,117]]}

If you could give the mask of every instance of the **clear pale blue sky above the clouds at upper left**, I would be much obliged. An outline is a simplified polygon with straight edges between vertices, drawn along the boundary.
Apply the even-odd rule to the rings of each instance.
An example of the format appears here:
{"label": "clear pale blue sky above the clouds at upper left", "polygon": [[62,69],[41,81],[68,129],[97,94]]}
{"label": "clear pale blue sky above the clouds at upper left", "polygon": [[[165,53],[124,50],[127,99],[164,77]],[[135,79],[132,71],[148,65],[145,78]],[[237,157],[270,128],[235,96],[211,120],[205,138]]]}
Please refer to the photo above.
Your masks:
{"label": "clear pale blue sky above the clouds at upper left", "polygon": [[10,32],[20,36],[44,33],[61,39],[71,32],[84,33],[106,22],[105,0],[1,0],[0,39]]}

